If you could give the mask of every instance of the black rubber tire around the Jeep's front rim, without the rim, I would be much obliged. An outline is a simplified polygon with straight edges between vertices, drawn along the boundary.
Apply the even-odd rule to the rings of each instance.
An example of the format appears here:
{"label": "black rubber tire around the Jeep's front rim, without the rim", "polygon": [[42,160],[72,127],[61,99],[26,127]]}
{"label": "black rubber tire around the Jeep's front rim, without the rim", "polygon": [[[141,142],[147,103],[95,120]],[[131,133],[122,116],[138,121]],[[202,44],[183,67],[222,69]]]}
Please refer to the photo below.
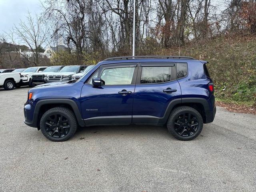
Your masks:
{"label": "black rubber tire around the Jeep's front rim, without the rim", "polygon": [[[45,121],[49,116],[52,116],[53,114],[61,114],[63,116],[65,116],[65,118],[68,119],[69,123],[70,123],[70,130],[68,132],[68,134],[66,134],[64,137],[61,138],[55,138],[52,137],[48,134],[48,132],[46,132],[45,129]],[[73,134],[74,134],[74,129],[76,130],[76,124],[74,124],[74,120],[72,119],[74,118],[74,116],[69,116],[67,115],[65,112],[61,111],[61,110],[52,110],[52,111],[47,111],[46,113],[44,113],[44,115],[42,116],[41,120],[40,120],[40,129],[42,134],[44,134],[44,136],[46,136],[46,138],[48,138],[49,140],[53,140],[53,141],[65,141],[68,140]]]}

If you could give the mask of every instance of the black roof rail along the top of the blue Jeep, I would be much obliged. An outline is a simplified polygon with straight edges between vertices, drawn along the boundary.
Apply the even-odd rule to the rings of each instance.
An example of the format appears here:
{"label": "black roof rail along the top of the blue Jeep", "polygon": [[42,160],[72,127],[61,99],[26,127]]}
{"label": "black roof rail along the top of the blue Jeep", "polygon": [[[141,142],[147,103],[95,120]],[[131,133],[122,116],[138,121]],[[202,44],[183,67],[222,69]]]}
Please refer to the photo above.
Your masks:
{"label": "black roof rail along the top of the blue Jeep", "polygon": [[189,60],[195,60],[195,58],[187,57],[187,56],[123,56],[123,57],[110,57],[107,59],[104,59],[103,61],[111,61],[111,60],[128,60],[128,59],[140,59],[140,58],[166,58],[166,59],[189,59]]}

